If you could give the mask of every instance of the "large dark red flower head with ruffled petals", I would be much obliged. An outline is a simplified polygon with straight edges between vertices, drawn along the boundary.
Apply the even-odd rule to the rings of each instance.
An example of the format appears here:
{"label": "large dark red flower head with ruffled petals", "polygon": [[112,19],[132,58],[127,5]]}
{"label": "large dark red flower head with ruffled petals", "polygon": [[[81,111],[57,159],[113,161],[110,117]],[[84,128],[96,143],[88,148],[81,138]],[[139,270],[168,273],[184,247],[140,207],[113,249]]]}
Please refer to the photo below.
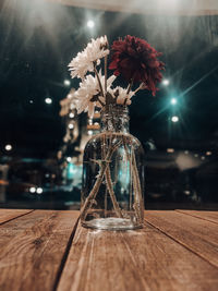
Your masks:
{"label": "large dark red flower head with ruffled petals", "polygon": [[147,41],[135,36],[125,36],[112,44],[112,61],[109,69],[114,75],[123,75],[128,82],[141,82],[145,87],[156,94],[156,84],[161,81],[160,70],[165,63],[157,57],[161,52],[155,50]]}

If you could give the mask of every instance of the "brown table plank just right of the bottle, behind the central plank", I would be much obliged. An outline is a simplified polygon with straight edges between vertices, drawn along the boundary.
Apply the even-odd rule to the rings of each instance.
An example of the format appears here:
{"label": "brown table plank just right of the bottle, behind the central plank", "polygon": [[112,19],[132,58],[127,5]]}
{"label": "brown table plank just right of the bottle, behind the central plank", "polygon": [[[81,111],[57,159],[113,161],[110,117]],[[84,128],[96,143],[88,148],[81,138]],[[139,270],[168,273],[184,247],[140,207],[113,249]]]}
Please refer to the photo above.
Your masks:
{"label": "brown table plank just right of the bottle, behind the central plank", "polygon": [[218,267],[218,226],[179,211],[146,211],[145,220]]}

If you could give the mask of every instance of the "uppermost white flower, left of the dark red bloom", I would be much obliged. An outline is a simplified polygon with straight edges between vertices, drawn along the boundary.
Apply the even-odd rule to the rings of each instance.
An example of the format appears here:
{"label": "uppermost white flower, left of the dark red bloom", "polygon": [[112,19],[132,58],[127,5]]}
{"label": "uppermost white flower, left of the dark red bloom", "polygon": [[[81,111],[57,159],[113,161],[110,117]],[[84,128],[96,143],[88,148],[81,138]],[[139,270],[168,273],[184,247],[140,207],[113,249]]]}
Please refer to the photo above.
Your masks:
{"label": "uppermost white flower, left of the dark red bloom", "polygon": [[84,78],[87,72],[94,71],[94,62],[99,64],[99,59],[106,57],[109,52],[107,36],[92,39],[87,47],[82,52],[78,52],[70,62],[71,77]]}

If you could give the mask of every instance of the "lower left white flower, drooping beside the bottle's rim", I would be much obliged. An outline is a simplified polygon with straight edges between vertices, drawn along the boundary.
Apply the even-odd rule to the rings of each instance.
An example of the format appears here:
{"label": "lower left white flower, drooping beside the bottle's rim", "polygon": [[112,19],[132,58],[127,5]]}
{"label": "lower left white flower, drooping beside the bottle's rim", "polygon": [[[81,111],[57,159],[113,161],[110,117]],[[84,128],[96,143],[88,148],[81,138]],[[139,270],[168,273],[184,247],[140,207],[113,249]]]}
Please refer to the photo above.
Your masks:
{"label": "lower left white flower, drooping beside the bottle's rim", "polygon": [[[101,87],[104,88],[105,76],[101,75],[101,72],[98,73]],[[107,86],[111,86],[116,76],[112,75],[107,80]],[[80,88],[74,94],[76,98],[76,110],[80,114],[81,112],[88,112],[89,117],[94,116],[95,107],[102,107],[105,105],[105,93],[102,94],[97,76],[87,75],[83,82],[80,83]]]}

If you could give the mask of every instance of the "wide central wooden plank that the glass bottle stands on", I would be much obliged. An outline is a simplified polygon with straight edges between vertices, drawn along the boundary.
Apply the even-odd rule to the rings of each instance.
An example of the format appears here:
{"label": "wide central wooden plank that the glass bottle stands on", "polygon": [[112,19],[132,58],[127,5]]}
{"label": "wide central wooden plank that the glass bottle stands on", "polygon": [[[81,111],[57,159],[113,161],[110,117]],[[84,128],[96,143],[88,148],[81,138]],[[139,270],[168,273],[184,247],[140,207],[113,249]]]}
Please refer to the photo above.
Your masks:
{"label": "wide central wooden plank that the glass bottle stands on", "polygon": [[137,231],[77,227],[58,291],[217,290],[218,269],[148,223]]}

